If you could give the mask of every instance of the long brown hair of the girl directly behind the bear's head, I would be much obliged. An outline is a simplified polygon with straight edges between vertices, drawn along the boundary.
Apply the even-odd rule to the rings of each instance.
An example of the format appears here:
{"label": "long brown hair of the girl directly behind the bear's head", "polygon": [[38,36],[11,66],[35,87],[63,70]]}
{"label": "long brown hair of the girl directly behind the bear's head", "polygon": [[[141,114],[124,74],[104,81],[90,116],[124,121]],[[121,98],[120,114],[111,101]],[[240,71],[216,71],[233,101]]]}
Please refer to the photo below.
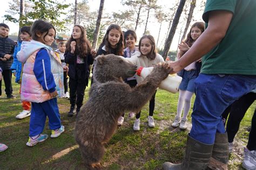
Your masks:
{"label": "long brown hair of the girl directly behind the bear's head", "polygon": [[119,41],[118,41],[117,47],[116,47],[116,49],[117,49],[117,54],[115,54],[115,55],[123,56],[123,50],[124,50],[123,32],[122,32],[122,29],[120,28],[120,26],[117,25],[117,24],[111,24],[111,25],[109,26],[109,28],[107,28],[107,31],[106,31],[105,36],[104,36],[104,38],[103,38],[103,42],[102,42],[102,44],[100,44],[99,47],[103,47],[103,46],[105,45],[107,54],[109,55],[109,54],[111,53],[110,50],[109,50],[109,49],[110,49],[109,32],[110,32],[110,30],[112,30],[112,29],[116,29],[116,30],[118,30],[119,33],[120,33],[120,38],[119,38]]}

